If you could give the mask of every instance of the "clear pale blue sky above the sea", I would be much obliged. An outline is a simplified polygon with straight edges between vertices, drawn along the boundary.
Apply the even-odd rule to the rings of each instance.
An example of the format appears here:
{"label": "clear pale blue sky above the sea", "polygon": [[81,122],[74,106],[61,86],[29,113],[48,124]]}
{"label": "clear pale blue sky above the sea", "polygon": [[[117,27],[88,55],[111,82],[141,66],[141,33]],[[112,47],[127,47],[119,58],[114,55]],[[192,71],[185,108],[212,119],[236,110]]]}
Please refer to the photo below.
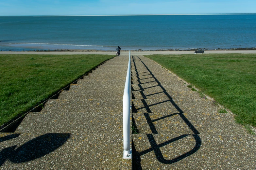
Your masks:
{"label": "clear pale blue sky above the sea", "polygon": [[256,0],[0,0],[0,16],[256,13]]}

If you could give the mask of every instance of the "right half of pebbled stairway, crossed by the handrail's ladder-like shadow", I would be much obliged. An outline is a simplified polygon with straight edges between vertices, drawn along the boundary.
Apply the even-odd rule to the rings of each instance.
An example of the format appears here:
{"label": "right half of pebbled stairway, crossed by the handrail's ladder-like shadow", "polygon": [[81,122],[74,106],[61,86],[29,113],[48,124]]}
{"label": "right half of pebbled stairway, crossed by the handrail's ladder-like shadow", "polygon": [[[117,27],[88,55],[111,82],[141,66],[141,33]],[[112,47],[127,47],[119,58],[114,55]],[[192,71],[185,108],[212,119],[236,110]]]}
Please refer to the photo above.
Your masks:
{"label": "right half of pebbled stairway, crossed by the handrail's ladder-like shadow", "polygon": [[256,136],[176,75],[132,56],[134,169],[256,169]]}

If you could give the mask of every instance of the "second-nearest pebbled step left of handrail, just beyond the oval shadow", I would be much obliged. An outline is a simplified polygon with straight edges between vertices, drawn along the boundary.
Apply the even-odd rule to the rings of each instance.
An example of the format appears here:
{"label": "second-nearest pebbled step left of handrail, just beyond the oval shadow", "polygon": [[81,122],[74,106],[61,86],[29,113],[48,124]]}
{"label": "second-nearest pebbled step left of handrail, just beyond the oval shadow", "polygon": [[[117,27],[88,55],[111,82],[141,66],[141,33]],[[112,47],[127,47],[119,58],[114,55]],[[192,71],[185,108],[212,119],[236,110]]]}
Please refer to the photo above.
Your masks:
{"label": "second-nearest pebbled step left of handrail, just beyond the oval shadow", "polygon": [[[111,126],[111,128],[110,128]],[[15,133],[93,133],[122,135],[122,115],[116,116],[111,109],[91,112],[42,111],[31,112]]]}

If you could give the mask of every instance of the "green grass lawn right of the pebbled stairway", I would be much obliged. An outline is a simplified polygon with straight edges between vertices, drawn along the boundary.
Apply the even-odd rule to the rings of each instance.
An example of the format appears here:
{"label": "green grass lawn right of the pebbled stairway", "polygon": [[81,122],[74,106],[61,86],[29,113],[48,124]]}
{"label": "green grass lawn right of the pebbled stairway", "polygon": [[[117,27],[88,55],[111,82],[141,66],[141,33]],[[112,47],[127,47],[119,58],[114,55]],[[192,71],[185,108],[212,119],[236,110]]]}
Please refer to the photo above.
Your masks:
{"label": "green grass lawn right of the pebbled stairway", "polygon": [[[256,54],[146,55],[256,127]],[[223,113],[225,114],[225,113]]]}

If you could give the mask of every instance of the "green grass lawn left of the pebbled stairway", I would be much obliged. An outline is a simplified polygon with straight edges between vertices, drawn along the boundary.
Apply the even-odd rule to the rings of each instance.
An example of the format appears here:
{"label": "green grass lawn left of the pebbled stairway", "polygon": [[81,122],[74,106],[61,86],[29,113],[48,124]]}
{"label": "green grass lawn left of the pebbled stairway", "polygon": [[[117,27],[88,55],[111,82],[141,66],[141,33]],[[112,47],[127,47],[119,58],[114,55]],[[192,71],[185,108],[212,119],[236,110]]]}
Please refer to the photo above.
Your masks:
{"label": "green grass lawn left of the pebbled stairway", "polygon": [[0,125],[40,104],[112,55],[0,55]]}

